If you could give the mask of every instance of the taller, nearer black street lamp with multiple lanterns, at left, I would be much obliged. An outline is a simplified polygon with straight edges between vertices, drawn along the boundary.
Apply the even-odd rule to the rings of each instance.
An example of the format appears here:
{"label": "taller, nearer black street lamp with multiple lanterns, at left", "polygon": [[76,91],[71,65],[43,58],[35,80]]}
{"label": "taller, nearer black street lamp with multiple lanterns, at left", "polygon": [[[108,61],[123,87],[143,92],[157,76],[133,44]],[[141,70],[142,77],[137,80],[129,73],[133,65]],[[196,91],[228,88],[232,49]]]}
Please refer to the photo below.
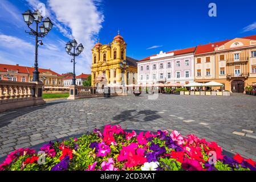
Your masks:
{"label": "taller, nearer black street lamp with multiple lanterns, at left", "polygon": [[[38,24],[42,22],[43,16],[40,14],[38,10],[35,10],[33,13],[30,10],[25,11],[22,14],[24,22],[29,27],[30,31],[26,33],[35,36],[35,63],[34,63],[34,71],[33,71],[33,80],[32,81],[39,81],[39,71],[38,71],[38,46],[39,44],[42,46],[42,40],[38,40],[39,38],[44,38],[48,34],[48,32],[52,29],[52,22],[50,18],[45,18],[43,20],[43,24],[39,26],[40,32],[38,32]],[[36,23],[35,30],[33,30],[30,25],[32,23]]]}

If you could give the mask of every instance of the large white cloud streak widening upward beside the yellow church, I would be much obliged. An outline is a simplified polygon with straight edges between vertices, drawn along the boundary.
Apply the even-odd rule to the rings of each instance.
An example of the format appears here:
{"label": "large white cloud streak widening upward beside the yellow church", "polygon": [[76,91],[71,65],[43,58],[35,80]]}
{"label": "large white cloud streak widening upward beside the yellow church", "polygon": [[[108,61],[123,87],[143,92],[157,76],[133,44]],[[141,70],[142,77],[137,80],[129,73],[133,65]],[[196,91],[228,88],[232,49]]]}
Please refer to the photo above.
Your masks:
{"label": "large white cloud streak widening upward beside the yellow church", "polygon": [[[64,27],[70,28],[72,37],[84,46],[82,59],[78,58],[76,64],[78,72],[90,73],[91,48],[94,46],[95,36],[99,34],[104,16],[97,10],[92,0],[49,0],[48,5],[54,12],[56,21]],[[61,27],[63,28],[63,26]],[[66,28],[63,30],[67,31]]]}

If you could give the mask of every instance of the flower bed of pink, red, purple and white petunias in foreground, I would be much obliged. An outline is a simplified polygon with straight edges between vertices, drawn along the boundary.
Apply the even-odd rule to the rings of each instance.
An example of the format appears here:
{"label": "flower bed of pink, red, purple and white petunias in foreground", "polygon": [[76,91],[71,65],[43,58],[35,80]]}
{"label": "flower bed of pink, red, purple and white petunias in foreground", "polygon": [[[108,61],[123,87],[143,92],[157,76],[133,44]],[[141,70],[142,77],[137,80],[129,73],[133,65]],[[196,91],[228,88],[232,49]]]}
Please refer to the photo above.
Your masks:
{"label": "flower bed of pink, red, purple and white petunias in foreground", "polygon": [[7,155],[0,170],[256,170],[256,163],[239,154],[222,155],[216,142],[177,131],[127,133],[120,126],[107,125],[103,133],[44,144],[38,153],[20,148]]}

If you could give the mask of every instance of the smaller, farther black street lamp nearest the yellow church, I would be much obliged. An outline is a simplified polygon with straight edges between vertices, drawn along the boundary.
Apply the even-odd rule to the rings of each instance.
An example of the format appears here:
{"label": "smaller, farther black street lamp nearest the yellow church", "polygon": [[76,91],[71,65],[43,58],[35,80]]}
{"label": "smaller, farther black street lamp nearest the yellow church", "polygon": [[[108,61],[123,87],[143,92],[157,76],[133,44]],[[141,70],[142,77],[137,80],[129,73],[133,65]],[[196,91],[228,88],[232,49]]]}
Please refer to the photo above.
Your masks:
{"label": "smaller, farther black street lamp nearest the yellow church", "polygon": [[[73,51],[72,51],[73,48]],[[78,46],[78,42],[76,42],[76,40],[72,40],[72,42],[67,42],[66,44],[66,52],[68,53],[68,55],[73,56],[73,59],[71,59],[71,63],[74,63],[74,73],[73,73],[73,78],[72,78],[72,85],[76,85],[76,75],[75,75],[75,57],[79,56],[80,53],[83,52],[83,45],[79,44]],[[72,52],[71,52],[72,51]]]}

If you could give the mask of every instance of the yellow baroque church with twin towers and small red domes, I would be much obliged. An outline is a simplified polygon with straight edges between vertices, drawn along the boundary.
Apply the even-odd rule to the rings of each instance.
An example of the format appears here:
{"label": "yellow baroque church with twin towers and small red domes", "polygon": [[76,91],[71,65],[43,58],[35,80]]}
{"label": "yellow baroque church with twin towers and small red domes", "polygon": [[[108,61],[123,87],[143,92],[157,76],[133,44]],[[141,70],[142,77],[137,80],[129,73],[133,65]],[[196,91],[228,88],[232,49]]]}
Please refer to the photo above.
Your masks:
{"label": "yellow baroque church with twin towers and small red domes", "polygon": [[[92,48],[92,86],[137,84],[137,60],[126,56],[126,46],[121,35],[115,36],[111,44],[96,43]],[[129,67],[121,73],[120,62],[126,60]]]}

